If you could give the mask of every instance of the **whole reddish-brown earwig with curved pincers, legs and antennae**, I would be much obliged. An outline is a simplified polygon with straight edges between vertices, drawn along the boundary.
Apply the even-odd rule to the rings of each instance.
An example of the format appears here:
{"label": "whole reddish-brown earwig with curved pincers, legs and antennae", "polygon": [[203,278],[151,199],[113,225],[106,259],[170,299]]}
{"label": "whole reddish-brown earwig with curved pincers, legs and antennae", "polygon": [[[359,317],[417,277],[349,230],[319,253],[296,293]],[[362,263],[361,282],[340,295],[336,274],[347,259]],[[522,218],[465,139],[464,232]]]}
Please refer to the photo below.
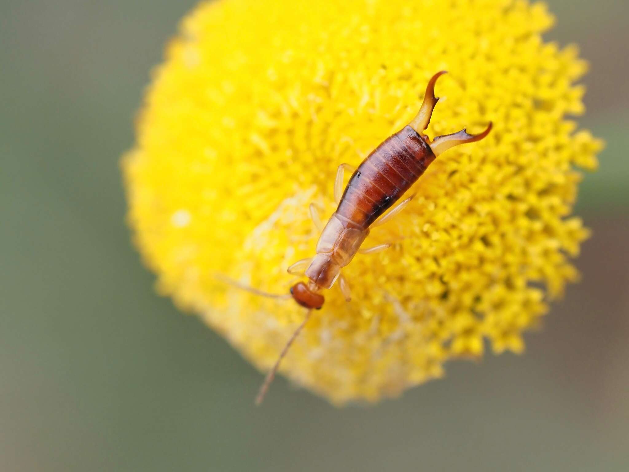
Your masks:
{"label": "whole reddish-brown earwig with curved pincers, legs and antennae", "polygon": [[[491,131],[490,122],[487,129],[477,135],[470,135],[466,130],[462,130],[430,140],[423,133],[430,123],[432,112],[439,100],[435,97],[435,83],[445,73],[442,70],[428,81],[420,111],[408,125],[384,140],[360,163],[357,169],[353,169],[349,164],[338,166],[334,184],[334,198],[338,207],[325,227],[321,224],[316,207],[310,205],[313,222],[321,231],[316,245],[316,255],[295,262],[288,268],[290,274],[306,276],[308,280],[305,283],[294,284],[290,290],[291,295],[276,295],[232,282],[257,295],[274,298],[292,296],[299,305],[308,308],[303,322],[292,334],[277,358],[276,364],[267,374],[255,400],[257,405],[262,403],[280,362],[308,321],[312,310],[319,310],[323,306],[325,298],[321,295],[321,291],[330,289],[338,279],[345,300],[350,301],[350,289],[341,275],[341,269],[347,266],[359,252],[369,254],[391,246],[391,244],[379,244],[367,249],[360,247],[369,235],[370,228],[389,221],[408,205],[413,196],[398,203],[382,218],[379,217],[413,186],[438,155],[459,144],[479,141]],[[345,171],[353,173],[343,191]]]}

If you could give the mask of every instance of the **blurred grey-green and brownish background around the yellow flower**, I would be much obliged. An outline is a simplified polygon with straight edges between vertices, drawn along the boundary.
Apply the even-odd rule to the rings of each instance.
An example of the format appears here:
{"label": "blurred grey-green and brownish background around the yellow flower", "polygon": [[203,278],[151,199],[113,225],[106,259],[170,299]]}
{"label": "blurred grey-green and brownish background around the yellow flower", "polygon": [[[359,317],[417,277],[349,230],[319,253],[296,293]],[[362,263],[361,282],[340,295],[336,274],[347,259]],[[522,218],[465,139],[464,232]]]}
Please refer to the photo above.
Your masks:
{"label": "blurred grey-green and brownish background around the yellow flower", "polygon": [[118,161],[194,0],[0,0],[0,471],[629,470],[629,3],[551,0],[608,145],[581,284],[524,356],[337,410],[153,292]]}

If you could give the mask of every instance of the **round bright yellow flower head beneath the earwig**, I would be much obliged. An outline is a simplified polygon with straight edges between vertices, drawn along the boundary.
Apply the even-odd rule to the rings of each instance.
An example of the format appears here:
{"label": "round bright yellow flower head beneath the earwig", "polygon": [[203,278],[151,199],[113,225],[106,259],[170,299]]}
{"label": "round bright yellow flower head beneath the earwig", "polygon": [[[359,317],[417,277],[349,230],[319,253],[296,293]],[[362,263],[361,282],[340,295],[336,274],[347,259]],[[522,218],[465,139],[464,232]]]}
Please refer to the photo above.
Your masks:
{"label": "round bright yellow flower head beneath the earwig", "polygon": [[160,293],[199,313],[259,368],[305,310],[274,293],[313,256],[308,205],[334,210],[338,164],[356,166],[442,99],[428,135],[487,121],[481,142],[438,157],[417,197],[325,293],[281,371],[335,403],[397,395],[443,363],[523,350],[521,334],[577,273],[587,237],[570,217],[601,143],[576,131],[586,70],[524,0],[221,0],[182,24],[155,73],[124,160],[129,220]]}

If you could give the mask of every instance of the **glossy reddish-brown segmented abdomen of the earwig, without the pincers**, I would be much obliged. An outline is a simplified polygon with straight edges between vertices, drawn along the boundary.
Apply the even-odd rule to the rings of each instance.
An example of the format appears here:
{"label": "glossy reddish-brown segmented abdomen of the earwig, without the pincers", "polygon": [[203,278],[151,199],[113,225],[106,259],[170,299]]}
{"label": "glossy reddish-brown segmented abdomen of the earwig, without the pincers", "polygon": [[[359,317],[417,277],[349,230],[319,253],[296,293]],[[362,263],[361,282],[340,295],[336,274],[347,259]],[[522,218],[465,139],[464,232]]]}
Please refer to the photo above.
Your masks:
{"label": "glossy reddish-brown segmented abdomen of the earwig, without the pincers", "polygon": [[352,174],[338,203],[340,220],[366,230],[433,160],[435,154],[428,144],[411,126],[405,126],[384,140]]}

